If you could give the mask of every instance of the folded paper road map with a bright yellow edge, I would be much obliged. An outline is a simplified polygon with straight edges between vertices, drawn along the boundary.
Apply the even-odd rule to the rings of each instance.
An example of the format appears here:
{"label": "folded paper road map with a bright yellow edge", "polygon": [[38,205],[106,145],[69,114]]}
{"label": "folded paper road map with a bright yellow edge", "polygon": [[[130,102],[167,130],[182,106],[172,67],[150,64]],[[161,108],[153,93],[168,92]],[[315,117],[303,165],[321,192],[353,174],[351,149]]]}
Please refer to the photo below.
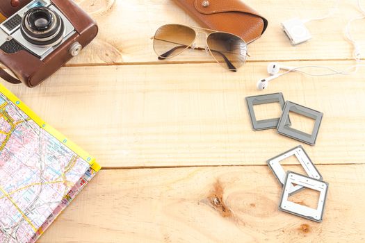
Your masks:
{"label": "folded paper road map with a bright yellow edge", "polygon": [[38,240],[99,169],[0,84],[0,242]]}

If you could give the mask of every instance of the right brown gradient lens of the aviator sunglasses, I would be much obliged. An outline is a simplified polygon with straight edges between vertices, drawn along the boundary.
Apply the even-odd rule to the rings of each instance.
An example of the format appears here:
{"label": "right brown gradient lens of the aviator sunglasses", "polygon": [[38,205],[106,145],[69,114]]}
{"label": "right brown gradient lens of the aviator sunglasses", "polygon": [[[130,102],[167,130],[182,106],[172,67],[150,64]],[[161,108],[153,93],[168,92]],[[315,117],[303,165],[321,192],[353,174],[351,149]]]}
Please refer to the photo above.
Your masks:
{"label": "right brown gradient lens of the aviator sunglasses", "polygon": [[246,61],[247,44],[236,35],[211,33],[206,43],[217,62],[229,70],[236,71]]}

